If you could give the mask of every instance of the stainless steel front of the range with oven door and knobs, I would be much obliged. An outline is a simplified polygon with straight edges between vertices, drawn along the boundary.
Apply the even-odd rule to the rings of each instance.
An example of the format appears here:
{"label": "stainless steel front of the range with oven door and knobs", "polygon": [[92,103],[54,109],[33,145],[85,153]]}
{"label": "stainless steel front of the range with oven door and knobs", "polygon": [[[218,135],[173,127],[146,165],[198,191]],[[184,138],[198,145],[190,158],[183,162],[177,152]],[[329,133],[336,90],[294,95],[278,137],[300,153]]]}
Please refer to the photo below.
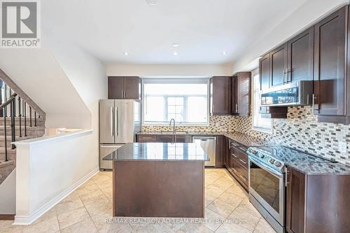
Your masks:
{"label": "stainless steel front of the range with oven door and knobs", "polygon": [[286,167],[269,147],[248,148],[249,201],[276,232],[285,232]]}

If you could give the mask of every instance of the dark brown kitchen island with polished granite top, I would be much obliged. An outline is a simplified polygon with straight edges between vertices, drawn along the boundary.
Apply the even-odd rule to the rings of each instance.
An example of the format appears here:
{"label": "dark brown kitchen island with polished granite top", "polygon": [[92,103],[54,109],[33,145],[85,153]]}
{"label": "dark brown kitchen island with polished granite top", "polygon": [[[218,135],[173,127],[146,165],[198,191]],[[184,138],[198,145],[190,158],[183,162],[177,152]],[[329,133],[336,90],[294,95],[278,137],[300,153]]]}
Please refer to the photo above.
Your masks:
{"label": "dark brown kitchen island with polished granite top", "polygon": [[113,216],[204,218],[204,162],[197,143],[127,143],[113,161]]}

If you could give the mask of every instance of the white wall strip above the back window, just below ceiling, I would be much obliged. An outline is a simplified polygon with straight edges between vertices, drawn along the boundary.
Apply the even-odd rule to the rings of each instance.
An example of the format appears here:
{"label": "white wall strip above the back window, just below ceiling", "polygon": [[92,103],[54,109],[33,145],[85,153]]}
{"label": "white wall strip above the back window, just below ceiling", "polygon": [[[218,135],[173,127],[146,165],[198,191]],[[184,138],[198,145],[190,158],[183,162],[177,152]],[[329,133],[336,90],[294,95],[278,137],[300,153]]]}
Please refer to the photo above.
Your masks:
{"label": "white wall strip above the back window, just below ceiling", "polygon": [[230,76],[230,65],[107,64],[107,76]]}

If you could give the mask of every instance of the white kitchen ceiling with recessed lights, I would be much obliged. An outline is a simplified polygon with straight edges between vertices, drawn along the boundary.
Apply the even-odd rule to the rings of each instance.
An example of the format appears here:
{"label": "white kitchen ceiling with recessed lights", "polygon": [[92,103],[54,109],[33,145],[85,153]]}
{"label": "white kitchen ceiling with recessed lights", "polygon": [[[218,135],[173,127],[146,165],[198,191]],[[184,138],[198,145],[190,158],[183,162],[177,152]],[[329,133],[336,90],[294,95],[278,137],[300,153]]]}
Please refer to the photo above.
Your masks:
{"label": "white kitchen ceiling with recessed lights", "polygon": [[305,1],[157,0],[150,6],[146,0],[45,0],[41,24],[104,62],[226,64]]}

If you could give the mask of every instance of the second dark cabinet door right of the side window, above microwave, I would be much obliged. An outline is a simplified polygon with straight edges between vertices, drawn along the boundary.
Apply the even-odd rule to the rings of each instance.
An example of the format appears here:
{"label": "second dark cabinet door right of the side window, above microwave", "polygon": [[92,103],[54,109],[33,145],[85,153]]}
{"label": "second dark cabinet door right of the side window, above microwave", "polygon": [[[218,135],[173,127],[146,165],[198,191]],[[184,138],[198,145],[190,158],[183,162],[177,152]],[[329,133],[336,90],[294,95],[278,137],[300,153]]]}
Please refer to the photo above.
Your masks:
{"label": "second dark cabinet door right of the side window, above microwave", "polygon": [[279,48],[276,48],[269,52],[269,59],[270,85],[274,87],[276,85],[285,84],[287,80],[287,43],[284,43],[283,45],[279,46]]}

